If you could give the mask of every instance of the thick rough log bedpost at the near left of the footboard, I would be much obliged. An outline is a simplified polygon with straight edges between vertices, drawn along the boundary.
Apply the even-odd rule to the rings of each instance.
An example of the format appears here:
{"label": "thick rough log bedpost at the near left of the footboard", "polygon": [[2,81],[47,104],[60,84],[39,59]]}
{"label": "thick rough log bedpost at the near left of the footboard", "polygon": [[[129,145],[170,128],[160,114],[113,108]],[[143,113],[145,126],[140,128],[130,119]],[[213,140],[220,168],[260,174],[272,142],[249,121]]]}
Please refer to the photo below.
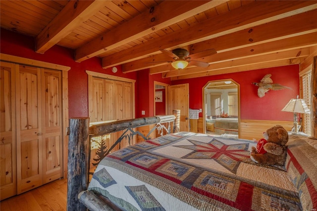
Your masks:
{"label": "thick rough log bedpost at the near left of the footboard", "polygon": [[78,194],[88,188],[89,182],[89,117],[69,120],[67,211],[86,211]]}

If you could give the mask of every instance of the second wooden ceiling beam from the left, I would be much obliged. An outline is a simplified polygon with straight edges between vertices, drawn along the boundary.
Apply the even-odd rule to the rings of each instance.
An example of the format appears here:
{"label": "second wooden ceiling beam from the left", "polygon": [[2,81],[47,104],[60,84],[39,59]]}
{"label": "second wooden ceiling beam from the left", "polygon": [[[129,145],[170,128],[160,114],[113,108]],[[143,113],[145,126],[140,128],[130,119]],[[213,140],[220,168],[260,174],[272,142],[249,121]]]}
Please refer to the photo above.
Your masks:
{"label": "second wooden ceiling beam from the left", "polygon": [[[83,61],[125,43],[144,37],[152,32],[186,19],[227,0],[163,1],[110,32],[92,40],[76,50],[75,60]],[[175,9],[177,8],[177,9]]]}

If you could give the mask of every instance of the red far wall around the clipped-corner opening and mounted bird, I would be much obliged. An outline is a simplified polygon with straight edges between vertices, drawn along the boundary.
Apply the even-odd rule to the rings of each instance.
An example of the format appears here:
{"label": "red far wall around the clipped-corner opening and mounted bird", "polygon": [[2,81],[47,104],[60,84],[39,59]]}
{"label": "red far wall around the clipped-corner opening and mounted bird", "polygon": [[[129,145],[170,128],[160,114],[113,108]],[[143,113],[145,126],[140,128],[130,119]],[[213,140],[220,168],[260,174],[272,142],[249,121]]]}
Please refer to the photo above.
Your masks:
{"label": "red far wall around the clipped-corner opening and mounted bird", "polygon": [[[271,73],[273,83],[279,83],[293,90],[268,91],[263,98],[257,94],[258,87],[252,82],[260,82],[264,75]],[[189,107],[203,107],[203,87],[212,80],[233,79],[240,84],[241,119],[292,121],[293,113],[281,109],[290,99],[299,95],[299,65],[266,68],[245,72],[229,73],[209,77],[172,81],[172,85],[189,83]],[[200,113],[202,116],[202,113]]]}

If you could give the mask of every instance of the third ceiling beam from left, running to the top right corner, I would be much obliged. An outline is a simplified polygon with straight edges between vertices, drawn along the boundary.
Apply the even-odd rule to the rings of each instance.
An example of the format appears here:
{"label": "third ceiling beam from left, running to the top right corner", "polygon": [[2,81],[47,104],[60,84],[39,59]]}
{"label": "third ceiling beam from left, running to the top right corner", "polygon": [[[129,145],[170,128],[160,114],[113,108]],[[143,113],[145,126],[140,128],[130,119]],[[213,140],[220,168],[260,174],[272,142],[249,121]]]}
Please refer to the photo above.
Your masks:
{"label": "third ceiling beam from left, running to the top right corner", "polygon": [[[212,19],[103,58],[103,67],[126,63],[159,49],[190,45],[317,8],[311,1],[255,1]],[[265,8],[265,10],[263,9]],[[241,15],[241,14],[244,15]],[[225,20],[225,21],[224,21]],[[173,45],[173,46],[171,46]]]}

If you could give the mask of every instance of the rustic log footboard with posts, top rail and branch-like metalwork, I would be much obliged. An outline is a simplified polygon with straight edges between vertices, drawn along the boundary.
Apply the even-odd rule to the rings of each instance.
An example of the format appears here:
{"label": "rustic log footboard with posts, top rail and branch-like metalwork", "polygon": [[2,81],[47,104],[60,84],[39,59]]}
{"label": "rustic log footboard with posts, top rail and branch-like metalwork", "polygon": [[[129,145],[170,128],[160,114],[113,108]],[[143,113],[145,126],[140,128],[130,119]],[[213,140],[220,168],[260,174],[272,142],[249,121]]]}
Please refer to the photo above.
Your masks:
{"label": "rustic log footboard with posts, top rail and branch-like metalwork", "polygon": [[[89,117],[71,118],[69,120],[69,141],[68,141],[68,174],[67,174],[67,211],[90,211],[101,210],[116,210],[109,206],[107,199],[88,191],[89,184],[89,158],[90,158],[90,138],[89,136],[101,136],[118,131],[130,131],[132,135],[141,135],[135,132],[132,128],[155,124],[154,129],[150,131],[151,134],[156,128],[159,131],[166,130],[167,133],[179,132],[179,118],[180,110],[173,110],[174,115],[144,117],[137,119],[128,119],[115,122],[98,123],[89,127]],[[168,122],[166,128],[161,123]],[[173,122],[171,130],[170,122]],[[125,132],[112,145],[111,149],[120,143]],[[143,136],[148,140],[149,134]]]}

